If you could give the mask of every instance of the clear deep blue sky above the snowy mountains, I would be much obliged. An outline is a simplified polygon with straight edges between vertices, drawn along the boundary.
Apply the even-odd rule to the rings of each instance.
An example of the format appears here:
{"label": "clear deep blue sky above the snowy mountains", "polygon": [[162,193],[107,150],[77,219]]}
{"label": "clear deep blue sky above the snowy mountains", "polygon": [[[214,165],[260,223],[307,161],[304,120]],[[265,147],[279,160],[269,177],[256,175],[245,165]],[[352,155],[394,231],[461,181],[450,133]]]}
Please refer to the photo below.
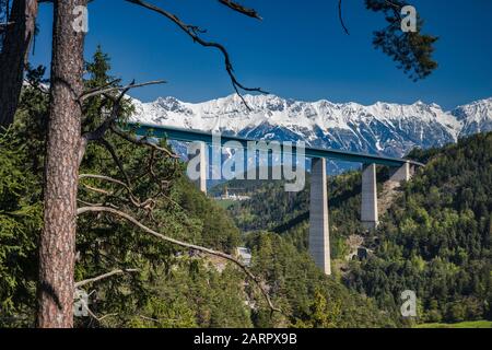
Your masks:
{"label": "clear deep blue sky above the snowy mountains", "polygon": [[[492,96],[492,1],[414,0],[426,21],[424,32],[440,36],[440,68],[412,82],[372,47],[372,32],[384,25],[363,0],[344,0],[340,27],[337,0],[242,0],[263,21],[230,11],[216,0],[148,0],[183,21],[207,28],[206,38],[224,44],[236,75],[246,85],[305,101],[435,102],[444,108]],[[221,55],[203,48],[173,23],[122,0],[90,5],[86,58],[101,44],[112,57],[113,74],[138,82],[165,79],[167,84],[134,90],[143,101],[176,96],[199,102],[233,92]],[[52,5],[42,4],[40,33],[33,63],[49,66]]]}

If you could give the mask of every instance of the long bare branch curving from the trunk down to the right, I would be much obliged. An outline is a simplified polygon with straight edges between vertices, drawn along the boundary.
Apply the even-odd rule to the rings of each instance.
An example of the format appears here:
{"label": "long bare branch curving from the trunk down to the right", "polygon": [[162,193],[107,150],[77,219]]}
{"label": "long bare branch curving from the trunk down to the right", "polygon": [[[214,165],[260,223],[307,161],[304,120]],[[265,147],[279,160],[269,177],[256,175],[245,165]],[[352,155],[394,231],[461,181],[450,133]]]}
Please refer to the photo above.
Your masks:
{"label": "long bare branch curving from the trunk down to the right", "polygon": [[81,215],[81,214],[87,213],[87,212],[107,212],[107,213],[112,213],[114,215],[120,217],[120,218],[131,222],[136,226],[140,228],[141,230],[145,231],[147,233],[149,233],[149,234],[153,235],[154,237],[157,237],[157,238],[160,238],[162,241],[165,241],[165,242],[168,242],[168,243],[172,243],[172,244],[185,247],[185,248],[189,248],[189,249],[194,249],[194,250],[197,250],[197,252],[201,252],[201,253],[204,253],[204,254],[218,256],[218,257],[221,257],[223,259],[226,259],[226,260],[235,264],[237,267],[239,267],[246,273],[246,276],[249,279],[251,279],[256,283],[256,285],[259,288],[259,290],[263,294],[263,296],[265,296],[265,299],[267,301],[267,304],[270,307],[270,310],[272,312],[273,311],[281,312],[279,308],[274,307],[274,305],[272,304],[272,302],[270,300],[270,295],[265,290],[265,288],[261,284],[261,281],[259,280],[259,278],[257,278],[243,262],[241,262],[238,259],[234,258],[233,256],[231,256],[229,254],[225,254],[225,253],[222,253],[222,252],[214,250],[214,249],[206,248],[206,247],[202,247],[202,246],[199,246],[199,245],[196,245],[196,244],[190,244],[190,243],[186,243],[186,242],[183,242],[183,241],[178,241],[178,240],[165,236],[165,235],[163,235],[163,234],[161,234],[161,233],[159,233],[159,232],[156,232],[156,231],[145,226],[144,224],[142,224],[140,221],[138,221],[133,217],[131,217],[131,215],[129,215],[129,214],[127,214],[127,213],[125,213],[122,211],[113,209],[113,208],[107,208],[107,207],[83,207],[83,208],[79,208],[77,210],[77,214],[78,215]]}

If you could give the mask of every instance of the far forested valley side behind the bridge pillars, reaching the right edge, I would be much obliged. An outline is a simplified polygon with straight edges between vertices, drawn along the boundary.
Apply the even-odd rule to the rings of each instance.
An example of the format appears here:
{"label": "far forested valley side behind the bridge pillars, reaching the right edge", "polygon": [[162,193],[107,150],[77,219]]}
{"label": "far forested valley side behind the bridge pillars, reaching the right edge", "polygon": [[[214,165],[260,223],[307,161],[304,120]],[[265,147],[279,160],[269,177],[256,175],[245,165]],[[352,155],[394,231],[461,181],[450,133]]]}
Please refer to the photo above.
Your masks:
{"label": "far forested valley side behind the bridge pillars, reaching the right edge", "polygon": [[[414,290],[418,322],[491,318],[492,133],[411,159],[427,165],[398,189],[377,231],[359,223],[361,174],[329,180],[331,253],[339,277],[352,291],[375,298],[394,319],[401,318],[400,293]],[[378,170],[378,190],[388,170]],[[237,184],[235,184],[237,186]],[[230,212],[243,231],[269,230],[306,252],[308,184],[298,194],[266,184]],[[370,252],[347,261],[359,237]]]}

